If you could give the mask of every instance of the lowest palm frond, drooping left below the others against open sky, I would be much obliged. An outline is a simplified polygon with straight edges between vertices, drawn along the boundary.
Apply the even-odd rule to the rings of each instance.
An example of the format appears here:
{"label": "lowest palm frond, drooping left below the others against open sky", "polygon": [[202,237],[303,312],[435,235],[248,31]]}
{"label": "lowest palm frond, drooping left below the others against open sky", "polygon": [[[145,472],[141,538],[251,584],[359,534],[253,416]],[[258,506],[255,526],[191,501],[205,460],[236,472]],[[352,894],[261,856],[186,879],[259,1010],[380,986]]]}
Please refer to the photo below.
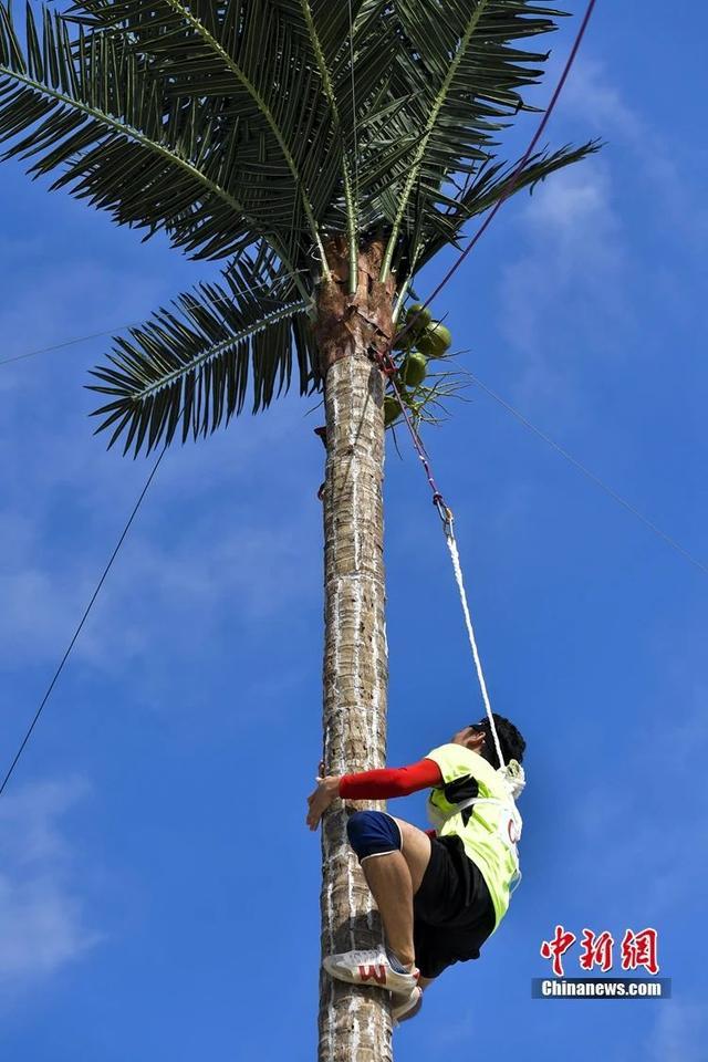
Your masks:
{"label": "lowest palm frond, drooping left below the others against open sky", "polygon": [[242,256],[225,282],[201,283],[163,308],[128,339],[117,337],[91,389],[110,402],[96,409],[97,431],[112,428],[137,456],[171,441],[215,431],[242,412],[288,391],[296,362],[301,394],[320,385],[316,351],[293,278],[272,256]]}

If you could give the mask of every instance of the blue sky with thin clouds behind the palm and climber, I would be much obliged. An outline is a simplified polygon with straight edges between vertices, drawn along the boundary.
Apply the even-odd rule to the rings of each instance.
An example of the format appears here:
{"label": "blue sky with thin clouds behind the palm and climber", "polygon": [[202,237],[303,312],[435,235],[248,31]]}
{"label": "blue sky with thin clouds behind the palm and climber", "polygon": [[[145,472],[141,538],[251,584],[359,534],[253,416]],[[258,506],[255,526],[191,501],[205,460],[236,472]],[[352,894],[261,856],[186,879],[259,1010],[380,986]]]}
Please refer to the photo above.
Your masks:
{"label": "blue sky with thin clouds behind the palm and climber", "polygon": [[[436,311],[464,366],[707,562],[708,14],[678,8],[598,4],[549,139],[606,147],[508,205]],[[552,42],[554,72],[576,24]],[[1,357],[139,322],[210,275],[15,165],[0,168],[0,201]],[[4,760],[147,473],[92,437],[82,385],[104,350],[0,366]],[[448,970],[396,1033],[396,1058],[483,1058],[503,1040],[532,1059],[699,1062],[706,575],[479,389],[467,397],[428,444],[492,701],[528,740],[524,878],[482,959]],[[314,1056],[311,406],[287,399],[168,455],[0,803],[13,1062]],[[481,711],[439,524],[402,449],[386,482],[394,766]],[[424,824],[419,795],[395,811]],[[673,1000],[531,1000],[556,922],[616,939],[655,926]]]}

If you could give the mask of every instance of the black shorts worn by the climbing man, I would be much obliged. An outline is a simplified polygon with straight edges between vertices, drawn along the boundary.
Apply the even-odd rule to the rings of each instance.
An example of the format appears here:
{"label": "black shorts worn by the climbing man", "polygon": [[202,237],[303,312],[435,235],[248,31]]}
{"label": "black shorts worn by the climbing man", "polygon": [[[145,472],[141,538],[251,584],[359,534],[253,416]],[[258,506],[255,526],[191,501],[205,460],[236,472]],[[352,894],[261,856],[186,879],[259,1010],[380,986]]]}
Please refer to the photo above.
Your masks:
{"label": "black shorts worn by the climbing man", "polygon": [[481,871],[459,837],[430,839],[430,862],[413,897],[413,913],[416,966],[423,977],[479,958],[497,919]]}

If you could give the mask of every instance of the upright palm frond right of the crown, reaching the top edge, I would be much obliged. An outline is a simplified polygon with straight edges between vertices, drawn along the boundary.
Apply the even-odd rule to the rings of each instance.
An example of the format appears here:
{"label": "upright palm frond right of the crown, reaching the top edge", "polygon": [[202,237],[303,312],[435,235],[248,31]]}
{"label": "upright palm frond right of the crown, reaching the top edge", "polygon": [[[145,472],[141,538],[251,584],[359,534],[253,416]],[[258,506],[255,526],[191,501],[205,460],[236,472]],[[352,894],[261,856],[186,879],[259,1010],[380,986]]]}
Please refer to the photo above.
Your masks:
{"label": "upright palm frond right of the crown, reaching the top edge", "polygon": [[546,58],[513,42],[550,32],[558,13],[529,0],[398,0],[395,10],[406,105],[385,125],[372,124],[368,145],[392,225],[382,275],[400,231],[416,223],[413,204],[424,212],[437,207],[451,175],[489,160],[494,137],[523,107],[520,90],[539,79]]}

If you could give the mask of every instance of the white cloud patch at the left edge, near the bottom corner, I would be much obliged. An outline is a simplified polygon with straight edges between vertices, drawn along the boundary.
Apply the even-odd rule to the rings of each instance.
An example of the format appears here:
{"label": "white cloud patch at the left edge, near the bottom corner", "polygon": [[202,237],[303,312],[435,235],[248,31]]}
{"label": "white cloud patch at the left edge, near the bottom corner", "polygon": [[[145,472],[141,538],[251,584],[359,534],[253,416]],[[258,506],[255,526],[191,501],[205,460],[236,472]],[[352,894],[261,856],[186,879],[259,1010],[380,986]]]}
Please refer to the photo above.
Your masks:
{"label": "white cloud patch at the left edge, near the bottom corner", "polygon": [[28,785],[0,802],[0,985],[4,992],[88,951],[75,861],[61,818],[87,792],[81,780]]}

